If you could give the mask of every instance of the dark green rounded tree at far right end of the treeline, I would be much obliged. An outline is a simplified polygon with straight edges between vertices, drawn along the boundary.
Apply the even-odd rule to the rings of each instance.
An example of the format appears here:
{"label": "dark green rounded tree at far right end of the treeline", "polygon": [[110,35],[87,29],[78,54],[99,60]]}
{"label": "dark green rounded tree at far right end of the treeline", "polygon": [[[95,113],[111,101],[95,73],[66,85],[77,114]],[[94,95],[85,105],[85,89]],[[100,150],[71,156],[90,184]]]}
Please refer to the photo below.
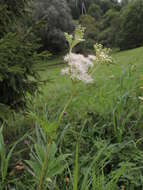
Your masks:
{"label": "dark green rounded tree at far right end of the treeline", "polygon": [[131,1],[123,10],[121,16],[121,30],[119,46],[121,49],[130,49],[143,44],[143,1]]}

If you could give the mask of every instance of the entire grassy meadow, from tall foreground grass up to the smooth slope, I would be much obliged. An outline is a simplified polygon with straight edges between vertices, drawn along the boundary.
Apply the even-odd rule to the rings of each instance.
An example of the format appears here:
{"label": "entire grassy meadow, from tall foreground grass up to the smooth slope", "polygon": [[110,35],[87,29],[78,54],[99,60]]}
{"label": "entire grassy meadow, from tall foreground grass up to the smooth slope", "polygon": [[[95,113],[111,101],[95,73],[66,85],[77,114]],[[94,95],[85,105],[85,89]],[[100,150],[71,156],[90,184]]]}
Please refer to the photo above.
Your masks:
{"label": "entire grassy meadow, from tall foreground grass up to the smooth slope", "polygon": [[[38,190],[143,188],[143,102],[139,99],[143,95],[143,48],[112,56],[113,64],[96,66],[93,84],[76,85],[50,149],[47,139],[54,134],[50,127],[55,127],[69,100],[72,84],[61,75],[66,66],[62,57],[43,62],[40,75],[48,82],[29,103],[30,112],[38,117],[34,116],[33,122],[29,114],[17,115],[5,131],[8,147],[14,145],[16,150],[9,157],[4,186],[16,190],[34,190],[40,183]],[[46,135],[41,127],[51,131]],[[15,164],[18,169],[13,169]]]}

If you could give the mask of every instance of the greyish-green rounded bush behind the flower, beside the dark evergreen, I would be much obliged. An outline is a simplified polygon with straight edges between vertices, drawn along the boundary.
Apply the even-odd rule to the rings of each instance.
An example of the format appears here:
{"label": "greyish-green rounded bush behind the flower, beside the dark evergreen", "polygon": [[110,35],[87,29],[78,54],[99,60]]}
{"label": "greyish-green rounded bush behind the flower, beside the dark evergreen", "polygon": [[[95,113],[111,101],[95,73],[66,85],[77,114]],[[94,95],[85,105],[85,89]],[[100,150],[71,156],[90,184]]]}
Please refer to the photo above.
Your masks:
{"label": "greyish-green rounded bush behind the flower, beside the dark evergreen", "polygon": [[43,49],[53,52],[63,51],[66,47],[64,32],[73,30],[70,9],[65,0],[36,1],[34,19],[44,21],[43,27],[37,31],[42,39]]}

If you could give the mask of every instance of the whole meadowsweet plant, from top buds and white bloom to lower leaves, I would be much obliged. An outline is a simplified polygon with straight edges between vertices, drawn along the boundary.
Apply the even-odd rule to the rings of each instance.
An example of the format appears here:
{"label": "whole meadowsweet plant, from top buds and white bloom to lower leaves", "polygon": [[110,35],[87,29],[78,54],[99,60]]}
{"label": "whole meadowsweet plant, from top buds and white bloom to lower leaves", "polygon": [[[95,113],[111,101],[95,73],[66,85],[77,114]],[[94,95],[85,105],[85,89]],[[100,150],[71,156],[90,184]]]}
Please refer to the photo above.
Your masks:
{"label": "whole meadowsweet plant, from top buds and white bloom to lower leaves", "polygon": [[[72,102],[73,97],[75,96],[75,84],[77,84],[79,81],[83,82],[84,84],[93,83],[94,79],[92,75],[93,75],[93,71],[97,62],[100,63],[100,62],[110,61],[109,59],[110,57],[108,57],[107,55],[108,52],[105,49],[103,49],[101,45],[99,46],[95,45],[96,47],[95,49],[97,50],[96,56],[89,55],[85,57],[82,54],[76,54],[72,52],[73,48],[77,44],[84,41],[83,27],[78,26],[73,35],[69,35],[65,33],[65,38],[69,44],[69,53],[64,57],[64,61],[67,63],[67,67],[62,69],[61,73],[63,75],[68,75],[72,81],[73,88],[71,92],[71,97],[65,104],[57,121],[49,122],[45,120],[44,118],[39,118],[39,116],[37,117],[33,114],[31,115],[37,121],[40,127],[42,127],[43,132],[47,137],[44,146],[43,145],[41,146],[41,144],[38,145],[37,143],[35,143],[34,152],[33,152],[33,149],[31,152],[31,159],[27,161],[27,164],[30,167],[29,169],[30,173],[32,173],[33,176],[35,176],[37,190],[44,190],[44,188],[46,189],[46,186],[45,186],[46,179],[48,178],[50,179],[50,181],[52,181],[52,178],[54,177],[54,175],[57,174],[54,172],[55,171],[54,162],[55,160],[58,160],[58,157],[56,156],[56,154],[52,155],[53,162],[51,163],[50,152],[53,152],[52,150],[53,147],[56,150],[55,139],[57,136],[57,129],[58,127],[61,126],[61,121],[63,119],[64,113],[66,112],[66,109],[68,108],[68,106]],[[65,159],[65,156],[63,157],[63,155],[62,157],[59,158],[59,162],[57,163],[57,168],[59,168],[58,174],[63,172],[60,165],[61,165],[61,162],[64,163],[64,159]],[[35,168],[36,165],[37,167]],[[75,190],[78,187],[78,145],[76,148],[73,187]]]}

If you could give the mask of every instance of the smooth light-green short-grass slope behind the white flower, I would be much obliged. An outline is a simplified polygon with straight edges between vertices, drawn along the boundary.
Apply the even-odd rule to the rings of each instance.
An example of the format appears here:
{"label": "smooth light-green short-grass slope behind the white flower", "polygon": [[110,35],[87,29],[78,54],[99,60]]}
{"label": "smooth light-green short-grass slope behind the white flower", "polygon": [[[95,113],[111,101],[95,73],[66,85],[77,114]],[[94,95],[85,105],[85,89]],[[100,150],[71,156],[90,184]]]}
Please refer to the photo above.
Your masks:
{"label": "smooth light-green short-grass slope behind the white flower", "polygon": [[[83,118],[87,111],[105,115],[126,93],[135,94],[143,75],[143,48],[119,52],[113,57],[115,64],[97,67],[95,84],[77,85],[77,96],[68,109],[70,118]],[[48,105],[52,118],[58,117],[71,94],[70,80],[60,75],[62,67],[53,66],[42,73],[43,78],[48,77],[52,82],[43,88],[44,96],[36,100],[40,105]]]}

